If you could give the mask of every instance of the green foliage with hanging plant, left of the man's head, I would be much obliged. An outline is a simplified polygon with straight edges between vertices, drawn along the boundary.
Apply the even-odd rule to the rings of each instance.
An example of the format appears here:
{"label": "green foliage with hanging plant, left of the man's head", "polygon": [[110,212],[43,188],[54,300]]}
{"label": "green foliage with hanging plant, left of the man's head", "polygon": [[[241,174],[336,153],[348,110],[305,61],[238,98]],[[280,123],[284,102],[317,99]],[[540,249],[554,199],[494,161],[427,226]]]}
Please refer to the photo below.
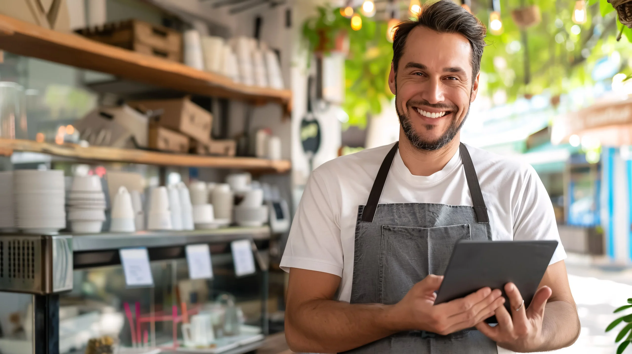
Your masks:
{"label": "green foliage with hanging plant, left of the man's head", "polygon": [[392,45],[386,39],[387,23],[362,15],[362,28],[351,29],[351,20],[339,9],[319,7],[318,16],[303,24],[303,37],[310,53],[316,50],[328,55],[341,32],[348,36],[349,54],[345,61],[345,97],[343,109],[349,115],[348,124],[364,127],[367,114],[379,114],[381,102],[392,98],[388,88]]}

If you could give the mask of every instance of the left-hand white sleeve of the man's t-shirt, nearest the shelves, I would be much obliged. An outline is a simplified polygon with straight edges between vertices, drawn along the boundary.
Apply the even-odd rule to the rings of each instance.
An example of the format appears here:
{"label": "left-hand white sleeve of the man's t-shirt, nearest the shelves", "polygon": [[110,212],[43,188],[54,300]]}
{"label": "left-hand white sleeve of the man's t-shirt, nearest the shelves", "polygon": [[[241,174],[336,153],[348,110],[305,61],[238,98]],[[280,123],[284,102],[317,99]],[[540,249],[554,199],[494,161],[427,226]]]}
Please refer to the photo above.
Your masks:
{"label": "left-hand white sleeve of the man's t-shirt, nearest the shelves", "polygon": [[324,179],[313,171],[292,221],[281,269],[343,275],[343,246],[333,210]]}

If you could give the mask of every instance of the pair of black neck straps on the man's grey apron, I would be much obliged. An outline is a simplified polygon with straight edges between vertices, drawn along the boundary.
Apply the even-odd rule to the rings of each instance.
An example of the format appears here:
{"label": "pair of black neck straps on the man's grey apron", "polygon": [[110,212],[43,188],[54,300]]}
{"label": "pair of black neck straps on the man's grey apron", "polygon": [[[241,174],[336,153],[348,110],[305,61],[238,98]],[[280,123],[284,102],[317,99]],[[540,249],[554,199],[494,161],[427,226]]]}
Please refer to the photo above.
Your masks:
{"label": "pair of black neck straps on the man's grey apron", "polygon": [[[395,159],[398,146],[399,141],[396,142],[391,150],[389,150],[386,154],[386,157],[382,161],[382,165],[380,165],[380,169],[377,171],[375,182],[373,183],[371,192],[368,194],[367,205],[362,210],[362,221],[370,223],[373,222],[375,211],[377,211],[377,204],[380,203],[380,196],[382,196],[382,190],[384,189],[384,184],[386,184],[386,178],[389,175],[389,170],[391,169],[392,162]],[[465,169],[465,179],[468,182],[470,196],[472,198],[472,204],[474,206],[474,212],[476,213],[477,220],[479,223],[489,223],[485,200],[483,199],[483,193],[480,191],[478,177],[470,157],[470,152],[463,143],[459,145],[459,151],[461,153],[461,160],[463,161],[463,168]]]}

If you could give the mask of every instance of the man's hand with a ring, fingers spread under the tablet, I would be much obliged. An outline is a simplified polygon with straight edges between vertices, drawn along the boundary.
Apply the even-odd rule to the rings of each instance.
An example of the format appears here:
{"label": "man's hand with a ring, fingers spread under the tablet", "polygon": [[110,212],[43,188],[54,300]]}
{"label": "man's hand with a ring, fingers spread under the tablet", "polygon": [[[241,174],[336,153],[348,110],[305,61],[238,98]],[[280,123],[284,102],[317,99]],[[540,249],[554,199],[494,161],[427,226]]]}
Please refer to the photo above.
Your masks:
{"label": "man's hand with a ring, fingers spread under the tablet", "polygon": [[539,351],[545,342],[542,335],[542,321],[544,307],[552,294],[551,289],[549,286],[539,288],[533,295],[528,309],[524,305],[521,307],[523,298],[513,283],[505,285],[505,293],[511,304],[511,315],[504,306],[498,307],[495,310],[498,325],[492,327],[485,322],[480,322],[476,326],[477,329],[502,348],[521,352]]}

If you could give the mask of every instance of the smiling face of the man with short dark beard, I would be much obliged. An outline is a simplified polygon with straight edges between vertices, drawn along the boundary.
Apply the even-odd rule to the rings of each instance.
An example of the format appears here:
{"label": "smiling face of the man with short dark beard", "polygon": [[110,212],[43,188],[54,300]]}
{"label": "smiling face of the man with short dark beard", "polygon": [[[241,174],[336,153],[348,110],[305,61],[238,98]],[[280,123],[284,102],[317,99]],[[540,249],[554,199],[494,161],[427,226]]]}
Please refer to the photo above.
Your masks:
{"label": "smiling face of the man with short dark beard", "polygon": [[461,129],[478,90],[470,58],[470,42],[459,33],[420,26],[408,34],[389,86],[401,129],[416,148],[438,150]]}

